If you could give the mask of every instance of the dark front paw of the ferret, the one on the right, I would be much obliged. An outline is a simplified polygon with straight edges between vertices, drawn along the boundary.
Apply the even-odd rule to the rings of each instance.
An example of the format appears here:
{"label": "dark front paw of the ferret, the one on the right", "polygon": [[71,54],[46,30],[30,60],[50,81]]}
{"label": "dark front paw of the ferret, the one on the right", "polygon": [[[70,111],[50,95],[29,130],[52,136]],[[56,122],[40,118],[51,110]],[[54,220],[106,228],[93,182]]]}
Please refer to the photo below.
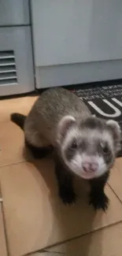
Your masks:
{"label": "dark front paw of the ferret, the one on the right", "polygon": [[109,206],[109,198],[107,198],[105,193],[100,193],[98,195],[91,193],[89,203],[94,207],[94,210],[103,210],[105,212]]}

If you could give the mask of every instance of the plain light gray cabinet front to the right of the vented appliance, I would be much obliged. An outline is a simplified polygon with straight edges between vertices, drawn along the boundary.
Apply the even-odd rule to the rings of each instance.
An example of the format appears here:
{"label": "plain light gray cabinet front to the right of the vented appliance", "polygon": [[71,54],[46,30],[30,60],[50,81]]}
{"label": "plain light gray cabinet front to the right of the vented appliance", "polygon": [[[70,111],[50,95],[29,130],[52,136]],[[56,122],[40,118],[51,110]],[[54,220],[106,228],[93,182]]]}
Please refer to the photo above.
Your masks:
{"label": "plain light gray cabinet front to the right of the vented appliance", "polygon": [[37,88],[122,78],[121,0],[31,0]]}

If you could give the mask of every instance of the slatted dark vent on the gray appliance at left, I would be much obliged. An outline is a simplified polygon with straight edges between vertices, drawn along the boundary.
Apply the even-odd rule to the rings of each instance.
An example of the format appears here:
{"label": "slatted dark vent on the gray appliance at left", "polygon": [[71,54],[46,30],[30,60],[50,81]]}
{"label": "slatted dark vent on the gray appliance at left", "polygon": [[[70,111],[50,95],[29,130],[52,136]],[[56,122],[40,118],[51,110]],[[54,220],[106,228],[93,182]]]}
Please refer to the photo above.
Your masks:
{"label": "slatted dark vent on the gray appliance at left", "polygon": [[17,69],[13,50],[0,50],[0,86],[17,84]]}

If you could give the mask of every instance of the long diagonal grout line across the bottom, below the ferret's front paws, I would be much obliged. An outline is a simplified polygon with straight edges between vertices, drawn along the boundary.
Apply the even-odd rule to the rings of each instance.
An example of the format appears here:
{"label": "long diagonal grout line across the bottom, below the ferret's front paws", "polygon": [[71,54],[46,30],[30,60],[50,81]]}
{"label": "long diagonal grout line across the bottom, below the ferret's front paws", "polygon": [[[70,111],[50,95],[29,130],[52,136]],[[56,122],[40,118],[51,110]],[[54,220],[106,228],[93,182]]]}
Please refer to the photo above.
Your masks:
{"label": "long diagonal grout line across the bottom, below the ferret's front paws", "polygon": [[90,232],[84,233],[83,235],[75,236],[75,237],[73,237],[71,239],[66,239],[66,240],[64,240],[62,242],[59,242],[59,243],[54,243],[53,245],[50,245],[50,247],[45,247],[45,248],[40,249],[40,250],[34,250],[34,251],[29,252],[28,254],[21,254],[20,256],[31,256],[31,254],[43,253],[43,252],[46,252],[47,250],[49,250],[49,249],[51,249],[53,247],[57,247],[57,246],[60,246],[61,244],[69,243],[69,242],[74,241],[76,239],[80,239],[80,238],[82,238],[84,236],[88,236],[88,235],[94,234],[96,232],[102,231],[103,229],[106,229],[106,228],[114,227],[117,224],[122,224],[122,220],[121,221],[116,221],[116,222],[114,222],[112,224],[109,224],[109,225],[101,227],[101,228],[97,228],[97,229],[92,230]]}

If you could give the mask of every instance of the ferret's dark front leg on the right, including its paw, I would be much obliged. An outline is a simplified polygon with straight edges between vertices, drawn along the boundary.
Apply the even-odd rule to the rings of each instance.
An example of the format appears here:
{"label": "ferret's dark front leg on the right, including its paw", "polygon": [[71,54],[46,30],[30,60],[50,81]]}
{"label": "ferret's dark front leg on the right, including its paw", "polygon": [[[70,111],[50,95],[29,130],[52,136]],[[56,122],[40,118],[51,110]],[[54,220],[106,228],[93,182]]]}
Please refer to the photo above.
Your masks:
{"label": "ferret's dark front leg on the right, including its paw", "polygon": [[90,192],[90,204],[94,207],[94,210],[106,211],[109,206],[109,198],[105,195],[104,188],[109,178],[109,172],[105,173],[96,179],[90,180],[91,192]]}

